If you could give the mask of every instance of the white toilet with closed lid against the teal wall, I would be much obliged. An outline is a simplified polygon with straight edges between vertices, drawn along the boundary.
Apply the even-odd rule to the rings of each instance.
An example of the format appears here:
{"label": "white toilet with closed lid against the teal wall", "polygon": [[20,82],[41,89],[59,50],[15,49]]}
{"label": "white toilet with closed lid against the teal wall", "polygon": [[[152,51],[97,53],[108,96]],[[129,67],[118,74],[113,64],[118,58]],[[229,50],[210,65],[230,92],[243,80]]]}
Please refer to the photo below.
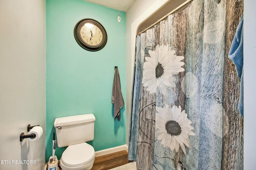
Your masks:
{"label": "white toilet with closed lid against the teal wall", "polygon": [[67,147],[60,158],[62,170],[90,170],[94,164],[94,148],[86,143],[94,139],[93,114],[56,118],[58,147]]}

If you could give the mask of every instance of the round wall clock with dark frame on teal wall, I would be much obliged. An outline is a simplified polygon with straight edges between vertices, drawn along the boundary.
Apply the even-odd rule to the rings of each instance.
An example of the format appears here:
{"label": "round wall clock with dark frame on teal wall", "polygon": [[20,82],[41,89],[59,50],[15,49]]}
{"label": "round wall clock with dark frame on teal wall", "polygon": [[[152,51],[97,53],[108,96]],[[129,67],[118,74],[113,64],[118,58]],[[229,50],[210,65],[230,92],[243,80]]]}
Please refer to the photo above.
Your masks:
{"label": "round wall clock with dark frame on teal wall", "polygon": [[86,18],[78,21],[74,27],[76,42],[88,51],[99,51],[107,43],[107,32],[96,20]]}

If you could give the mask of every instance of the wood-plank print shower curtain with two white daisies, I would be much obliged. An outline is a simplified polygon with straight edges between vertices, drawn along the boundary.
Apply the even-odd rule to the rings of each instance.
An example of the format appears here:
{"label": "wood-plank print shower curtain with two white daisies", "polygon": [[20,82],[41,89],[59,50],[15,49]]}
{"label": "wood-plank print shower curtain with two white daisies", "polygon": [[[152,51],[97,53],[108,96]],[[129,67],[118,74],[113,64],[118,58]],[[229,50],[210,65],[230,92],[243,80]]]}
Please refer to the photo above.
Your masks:
{"label": "wood-plank print shower curtain with two white daisies", "polygon": [[228,59],[243,0],[194,0],[137,35],[129,160],[140,170],[243,169]]}

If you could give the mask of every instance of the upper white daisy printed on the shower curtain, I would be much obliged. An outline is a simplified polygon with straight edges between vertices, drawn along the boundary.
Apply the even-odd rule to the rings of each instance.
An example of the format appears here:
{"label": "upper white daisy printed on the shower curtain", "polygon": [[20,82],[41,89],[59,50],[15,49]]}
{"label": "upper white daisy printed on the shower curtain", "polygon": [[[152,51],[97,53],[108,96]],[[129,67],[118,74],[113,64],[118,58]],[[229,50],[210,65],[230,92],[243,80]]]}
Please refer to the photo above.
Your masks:
{"label": "upper white daisy printed on the shower curtain", "polygon": [[169,51],[168,45],[156,46],[155,51],[148,51],[150,57],[145,57],[143,65],[142,84],[148,87],[150,94],[155,93],[157,87],[166,96],[166,87],[175,87],[176,78],[172,75],[184,71],[181,66],[183,56],[176,56],[174,50]]}

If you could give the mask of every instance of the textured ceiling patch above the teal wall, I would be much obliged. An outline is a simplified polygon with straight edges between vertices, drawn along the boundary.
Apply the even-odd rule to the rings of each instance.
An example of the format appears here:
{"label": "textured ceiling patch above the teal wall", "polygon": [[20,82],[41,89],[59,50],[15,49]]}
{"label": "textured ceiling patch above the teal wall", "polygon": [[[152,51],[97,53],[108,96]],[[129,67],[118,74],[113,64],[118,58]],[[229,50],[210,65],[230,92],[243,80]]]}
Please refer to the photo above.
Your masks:
{"label": "textured ceiling patch above the teal wall", "polygon": [[126,12],[135,0],[84,0],[94,4],[106,6],[119,11]]}

